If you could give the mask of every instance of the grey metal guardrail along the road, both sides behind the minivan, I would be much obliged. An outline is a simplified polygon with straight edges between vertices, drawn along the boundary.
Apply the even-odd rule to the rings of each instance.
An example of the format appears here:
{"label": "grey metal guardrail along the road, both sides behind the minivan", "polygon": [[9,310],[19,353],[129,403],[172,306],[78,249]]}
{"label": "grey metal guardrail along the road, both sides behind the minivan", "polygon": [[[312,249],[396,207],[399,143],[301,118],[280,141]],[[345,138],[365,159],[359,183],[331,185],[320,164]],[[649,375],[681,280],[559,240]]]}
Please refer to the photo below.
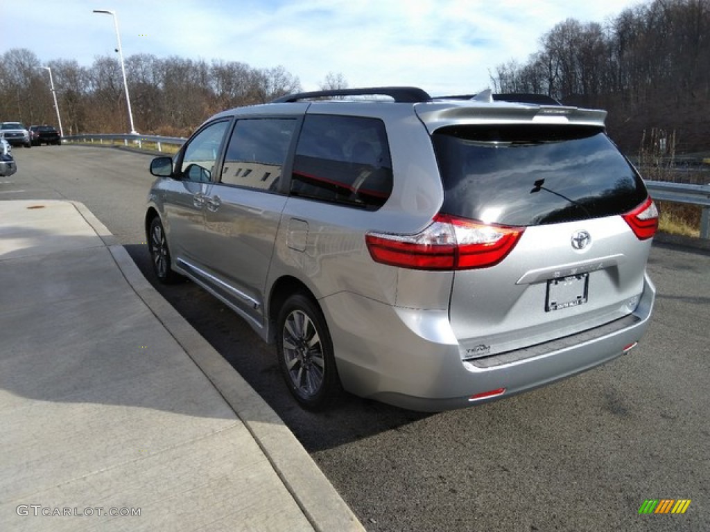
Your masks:
{"label": "grey metal guardrail along the road, both sides behind the minivan", "polygon": [[[158,135],[70,135],[64,137],[65,141],[79,140],[88,143],[114,144],[116,140],[123,140],[124,145],[137,145],[143,147],[143,143],[153,143],[158,151],[163,151],[163,145],[185,144],[187,138],[182,137],[161,137]],[[700,219],[700,238],[710,238],[710,184],[684,184],[665,181],[645,181],[651,196],[661,201],[676,201],[703,207]]]}

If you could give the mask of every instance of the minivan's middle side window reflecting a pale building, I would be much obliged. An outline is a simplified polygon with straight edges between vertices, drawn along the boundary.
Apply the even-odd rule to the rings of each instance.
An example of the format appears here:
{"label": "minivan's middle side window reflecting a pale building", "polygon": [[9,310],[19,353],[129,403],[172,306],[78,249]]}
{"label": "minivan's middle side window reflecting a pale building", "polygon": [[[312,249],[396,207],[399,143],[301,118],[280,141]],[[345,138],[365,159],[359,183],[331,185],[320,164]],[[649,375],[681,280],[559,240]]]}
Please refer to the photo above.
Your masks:
{"label": "minivan's middle side window reflecting a pale building", "polygon": [[224,184],[275,191],[297,121],[294,118],[239,120],[224,157]]}

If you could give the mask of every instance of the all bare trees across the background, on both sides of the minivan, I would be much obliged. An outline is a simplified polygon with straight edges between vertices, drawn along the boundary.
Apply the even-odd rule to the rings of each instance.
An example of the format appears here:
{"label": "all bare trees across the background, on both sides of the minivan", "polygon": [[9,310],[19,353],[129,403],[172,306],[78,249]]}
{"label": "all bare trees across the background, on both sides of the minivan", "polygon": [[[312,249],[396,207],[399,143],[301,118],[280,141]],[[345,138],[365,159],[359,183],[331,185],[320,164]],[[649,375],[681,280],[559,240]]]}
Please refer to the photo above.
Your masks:
{"label": "all bare trees across the background, on both sides of the minivan", "polygon": [[[15,48],[0,56],[0,119],[55,123],[48,83],[51,68],[65,134],[129,131],[117,57],[43,65]],[[211,114],[258,104],[301,90],[283,66],[243,62],[126,58],[131,107],[141,133],[187,135]],[[386,84],[386,83],[384,83]],[[540,38],[525,62],[491,72],[496,92],[549,94],[564,104],[607,109],[608,131],[626,153],[638,153],[645,131],[674,134],[677,152],[709,149],[710,0],[652,0],[601,23],[574,18]],[[327,74],[323,89],[344,88]]]}

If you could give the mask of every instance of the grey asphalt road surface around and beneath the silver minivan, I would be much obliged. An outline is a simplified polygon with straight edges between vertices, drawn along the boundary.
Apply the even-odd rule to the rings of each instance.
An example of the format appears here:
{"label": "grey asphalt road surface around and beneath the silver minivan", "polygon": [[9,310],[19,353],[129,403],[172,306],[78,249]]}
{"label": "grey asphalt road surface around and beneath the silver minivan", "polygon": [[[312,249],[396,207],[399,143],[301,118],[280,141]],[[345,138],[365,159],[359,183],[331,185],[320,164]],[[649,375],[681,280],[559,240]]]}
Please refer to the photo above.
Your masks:
{"label": "grey asphalt road surface around and beneath the silver minivan", "polygon": [[[142,219],[149,155],[14,150],[0,200],[82,201],[154,282]],[[417,414],[356,397],[295,406],[273,348],[190,282],[158,290],[288,424],[368,531],[710,530],[710,253],[654,245],[642,343],[583,375],[503,401]],[[692,499],[639,515],[645,499]]]}

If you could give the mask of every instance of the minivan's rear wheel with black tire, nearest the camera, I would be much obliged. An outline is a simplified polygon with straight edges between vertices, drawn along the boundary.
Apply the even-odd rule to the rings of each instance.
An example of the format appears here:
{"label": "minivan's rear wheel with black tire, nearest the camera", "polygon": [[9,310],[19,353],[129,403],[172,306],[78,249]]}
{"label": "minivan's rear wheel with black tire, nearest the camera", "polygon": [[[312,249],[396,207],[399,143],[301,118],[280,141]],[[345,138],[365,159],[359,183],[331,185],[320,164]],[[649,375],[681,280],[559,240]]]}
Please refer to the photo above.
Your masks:
{"label": "minivan's rear wheel with black tire, nearest the camera", "polygon": [[276,331],[278,365],[296,401],[320,410],[342,389],[333,343],[320,308],[304,294],[293,294],[281,307]]}

